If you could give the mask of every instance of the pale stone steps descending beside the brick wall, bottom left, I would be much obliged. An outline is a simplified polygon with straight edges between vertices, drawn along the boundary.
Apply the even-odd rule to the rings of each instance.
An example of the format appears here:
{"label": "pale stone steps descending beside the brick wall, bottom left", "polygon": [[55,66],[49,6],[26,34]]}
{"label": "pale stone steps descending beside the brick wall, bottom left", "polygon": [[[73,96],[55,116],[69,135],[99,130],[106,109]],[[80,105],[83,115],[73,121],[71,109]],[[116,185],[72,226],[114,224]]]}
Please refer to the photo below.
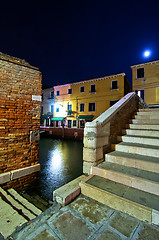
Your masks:
{"label": "pale stone steps descending beside the brick wall, bottom left", "polygon": [[13,188],[0,187],[0,233],[6,238],[19,226],[36,218],[42,211]]}

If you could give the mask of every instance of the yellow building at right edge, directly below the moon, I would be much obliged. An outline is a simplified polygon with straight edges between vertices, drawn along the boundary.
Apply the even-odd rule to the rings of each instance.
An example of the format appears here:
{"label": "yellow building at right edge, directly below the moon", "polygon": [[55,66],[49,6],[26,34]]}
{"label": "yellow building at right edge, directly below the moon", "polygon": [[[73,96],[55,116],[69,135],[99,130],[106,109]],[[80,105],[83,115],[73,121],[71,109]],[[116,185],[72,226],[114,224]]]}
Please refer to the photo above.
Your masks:
{"label": "yellow building at right edge, directly below the moon", "polygon": [[159,60],[131,66],[133,91],[149,106],[159,106]]}

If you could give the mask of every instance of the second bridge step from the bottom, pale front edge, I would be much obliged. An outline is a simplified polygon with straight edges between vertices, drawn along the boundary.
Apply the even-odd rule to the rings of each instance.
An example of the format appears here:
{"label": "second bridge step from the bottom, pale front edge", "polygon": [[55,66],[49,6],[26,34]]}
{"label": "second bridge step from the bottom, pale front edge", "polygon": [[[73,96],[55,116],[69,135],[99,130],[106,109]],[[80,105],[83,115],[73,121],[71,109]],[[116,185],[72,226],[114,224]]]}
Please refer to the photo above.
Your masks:
{"label": "second bridge step from the bottom, pale front edge", "polygon": [[110,162],[92,168],[92,174],[159,195],[159,174]]}

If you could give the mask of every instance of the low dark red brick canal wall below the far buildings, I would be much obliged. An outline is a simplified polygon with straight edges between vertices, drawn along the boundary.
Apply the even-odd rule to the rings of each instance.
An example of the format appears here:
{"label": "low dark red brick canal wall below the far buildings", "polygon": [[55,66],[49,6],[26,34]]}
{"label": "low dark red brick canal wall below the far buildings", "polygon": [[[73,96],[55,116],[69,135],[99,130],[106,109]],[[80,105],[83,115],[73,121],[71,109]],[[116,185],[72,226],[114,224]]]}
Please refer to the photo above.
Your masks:
{"label": "low dark red brick canal wall below the far buildings", "polygon": [[40,127],[41,136],[83,140],[83,128]]}

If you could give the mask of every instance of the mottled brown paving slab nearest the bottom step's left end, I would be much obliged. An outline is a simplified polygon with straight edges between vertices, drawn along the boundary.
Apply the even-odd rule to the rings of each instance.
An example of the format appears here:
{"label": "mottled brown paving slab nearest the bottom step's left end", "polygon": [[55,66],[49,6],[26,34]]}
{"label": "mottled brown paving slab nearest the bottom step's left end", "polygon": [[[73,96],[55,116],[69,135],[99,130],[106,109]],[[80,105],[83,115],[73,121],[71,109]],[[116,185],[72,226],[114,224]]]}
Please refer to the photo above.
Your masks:
{"label": "mottled brown paving slab nearest the bottom step's left end", "polygon": [[98,223],[103,219],[108,219],[113,212],[109,207],[92,199],[90,200],[89,198],[78,199],[72,204],[72,207],[92,223]]}

